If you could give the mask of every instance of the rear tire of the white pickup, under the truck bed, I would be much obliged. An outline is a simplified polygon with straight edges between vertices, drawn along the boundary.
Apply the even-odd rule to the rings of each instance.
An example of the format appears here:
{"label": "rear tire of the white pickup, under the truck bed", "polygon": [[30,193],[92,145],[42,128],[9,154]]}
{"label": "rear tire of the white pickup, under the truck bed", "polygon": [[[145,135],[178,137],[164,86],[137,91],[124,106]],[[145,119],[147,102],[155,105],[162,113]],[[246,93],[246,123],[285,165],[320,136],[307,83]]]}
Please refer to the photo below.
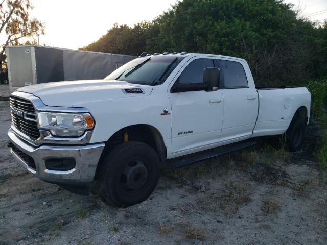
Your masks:
{"label": "rear tire of the white pickup, under the truck bed", "polygon": [[301,150],[305,136],[305,120],[295,119],[286,131],[286,143],[290,152]]}

